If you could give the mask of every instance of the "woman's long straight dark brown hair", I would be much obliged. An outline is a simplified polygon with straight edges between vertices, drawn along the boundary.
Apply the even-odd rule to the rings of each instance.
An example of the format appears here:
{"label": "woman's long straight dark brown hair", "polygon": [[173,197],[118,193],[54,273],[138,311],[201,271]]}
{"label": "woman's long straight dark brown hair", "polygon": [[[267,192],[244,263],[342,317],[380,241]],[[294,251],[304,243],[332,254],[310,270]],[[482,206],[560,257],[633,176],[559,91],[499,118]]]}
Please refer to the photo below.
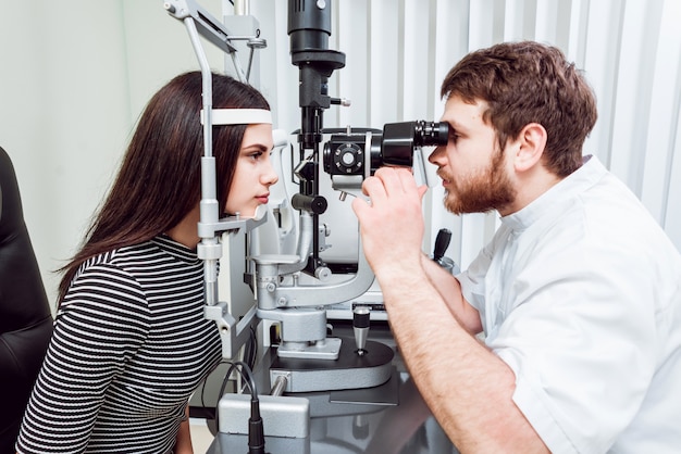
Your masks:
{"label": "woman's long straight dark brown hair", "polygon": [[[213,109],[267,109],[249,85],[213,74]],[[60,270],[59,302],[88,258],[137,244],[174,227],[201,198],[203,130],[199,112],[201,73],[182,74],[149,101],[107,199],[87,230],[81,250]],[[246,125],[213,127],[219,206],[226,205]]]}

